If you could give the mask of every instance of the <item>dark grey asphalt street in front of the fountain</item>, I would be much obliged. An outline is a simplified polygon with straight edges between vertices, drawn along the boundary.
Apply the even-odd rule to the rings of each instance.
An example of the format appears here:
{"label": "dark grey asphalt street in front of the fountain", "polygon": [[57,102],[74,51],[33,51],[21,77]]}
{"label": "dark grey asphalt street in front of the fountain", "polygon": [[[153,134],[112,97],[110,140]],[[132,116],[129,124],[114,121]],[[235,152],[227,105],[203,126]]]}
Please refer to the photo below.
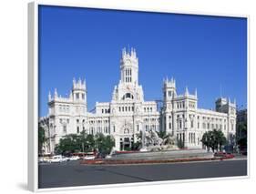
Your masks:
{"label": "dark grey asphalt street in front of the fountain", "polygon": [[246,176],[247,160],[86,166],[78,161],[39,165],[39,188]]}

